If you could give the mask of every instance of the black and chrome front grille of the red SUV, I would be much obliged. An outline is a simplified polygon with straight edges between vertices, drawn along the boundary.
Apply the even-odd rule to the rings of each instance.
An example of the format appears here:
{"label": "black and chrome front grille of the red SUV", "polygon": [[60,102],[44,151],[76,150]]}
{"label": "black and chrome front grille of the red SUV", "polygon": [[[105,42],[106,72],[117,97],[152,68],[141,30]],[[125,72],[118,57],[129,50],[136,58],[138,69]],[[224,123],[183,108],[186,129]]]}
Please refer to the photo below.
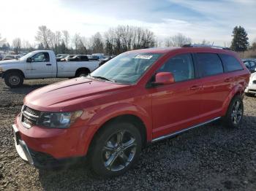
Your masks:
{"label": "black and chrome front grille of the red SUV", "polygon": [[39,115],[39,111],[24,105],[21,109],[20,120],[25,128],[31,128],[36,125]]}

